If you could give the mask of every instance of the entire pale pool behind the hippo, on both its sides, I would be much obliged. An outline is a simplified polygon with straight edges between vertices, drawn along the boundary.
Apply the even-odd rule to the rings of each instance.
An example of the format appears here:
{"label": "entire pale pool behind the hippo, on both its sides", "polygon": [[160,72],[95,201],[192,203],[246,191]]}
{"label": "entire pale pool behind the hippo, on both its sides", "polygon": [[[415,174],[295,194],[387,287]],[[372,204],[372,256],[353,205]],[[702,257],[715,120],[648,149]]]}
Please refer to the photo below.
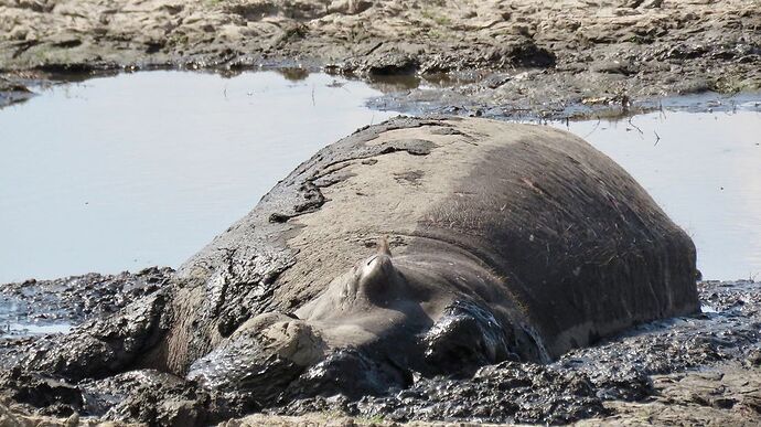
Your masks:
{"label": "entire pale pool behind the hippo, on both its sides", "polygon": [[[319,148],[393,116],[365,107],[379,95],[323,74],[147,72],[2,109],[0,282],[176,267]],[[706,278],[737,279],[761,276],[754,109],[554,126],[629,170],[693,236]]]}

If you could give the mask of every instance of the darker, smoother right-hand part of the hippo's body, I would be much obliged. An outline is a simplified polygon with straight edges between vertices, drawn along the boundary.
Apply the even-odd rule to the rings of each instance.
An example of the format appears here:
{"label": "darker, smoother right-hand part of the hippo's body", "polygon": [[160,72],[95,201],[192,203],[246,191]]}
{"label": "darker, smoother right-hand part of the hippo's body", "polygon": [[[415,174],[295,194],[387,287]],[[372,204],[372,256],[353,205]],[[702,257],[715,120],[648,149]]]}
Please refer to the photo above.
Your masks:
{"label": "darker, smoother right-hand part of the hippo's body", "polygon": [[698,309],[692,239],[629,173],[568,132],[495,128],[415,234],[501,274],[551,356]]}

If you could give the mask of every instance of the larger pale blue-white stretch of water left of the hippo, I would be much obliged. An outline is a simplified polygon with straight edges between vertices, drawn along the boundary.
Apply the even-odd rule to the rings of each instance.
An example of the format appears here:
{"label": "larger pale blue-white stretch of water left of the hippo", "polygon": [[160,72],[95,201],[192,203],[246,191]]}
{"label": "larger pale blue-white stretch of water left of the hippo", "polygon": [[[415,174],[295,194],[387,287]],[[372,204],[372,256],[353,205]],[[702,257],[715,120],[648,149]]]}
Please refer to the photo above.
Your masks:
{"label": "larger pale blue-white stretch of water left of the hippo", "polygon": [[326,75],[149,72],[0,110],[0,282],[176,267],[319,148],[378,122]]}

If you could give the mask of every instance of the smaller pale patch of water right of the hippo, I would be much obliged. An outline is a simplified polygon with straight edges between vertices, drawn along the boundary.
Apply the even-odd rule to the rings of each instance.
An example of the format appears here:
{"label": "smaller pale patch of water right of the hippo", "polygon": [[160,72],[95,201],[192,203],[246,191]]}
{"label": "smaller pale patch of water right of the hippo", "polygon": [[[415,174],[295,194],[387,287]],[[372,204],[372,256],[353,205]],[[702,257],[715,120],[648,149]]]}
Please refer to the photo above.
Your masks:
{"label": "smaller pale patch of water right of the hippo", "polygon": [[754,102],[736,111],[662,111],[568,129],[623,166],[687,231],[704,278],[761,279],[761,113]]}

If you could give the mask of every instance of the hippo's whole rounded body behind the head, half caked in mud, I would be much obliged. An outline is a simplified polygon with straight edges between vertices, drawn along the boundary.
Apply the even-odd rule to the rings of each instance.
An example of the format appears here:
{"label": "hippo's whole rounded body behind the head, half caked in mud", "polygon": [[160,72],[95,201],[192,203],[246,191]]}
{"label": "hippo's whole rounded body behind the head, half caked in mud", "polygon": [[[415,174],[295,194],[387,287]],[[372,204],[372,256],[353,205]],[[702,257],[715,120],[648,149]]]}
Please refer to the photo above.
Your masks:
{"label": "hippo's whole rounded body behind the head, half caked in mud", "polygon": [[225,337],[302,306],[380,235],[481,259],[554,356],[697,309],[692,241],[625,171],[570,134],[485,119],[394,119],[326,147],[180,275]]}

